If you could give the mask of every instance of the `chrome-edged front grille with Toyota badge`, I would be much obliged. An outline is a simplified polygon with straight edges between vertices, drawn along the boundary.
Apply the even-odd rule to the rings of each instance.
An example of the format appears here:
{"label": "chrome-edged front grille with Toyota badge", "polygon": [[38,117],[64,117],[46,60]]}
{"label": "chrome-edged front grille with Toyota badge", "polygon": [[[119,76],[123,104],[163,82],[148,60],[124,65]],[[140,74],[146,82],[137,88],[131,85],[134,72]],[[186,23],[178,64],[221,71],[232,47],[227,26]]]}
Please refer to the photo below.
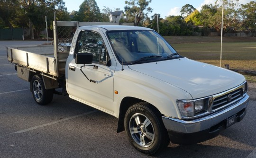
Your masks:
{"label": "chrome-edged front grille with Toyota badge", "polygon": [[[230,95],[232,95],[232,99],[230,100]],[[213,101],[212,111],[219,109],[225,105],[228,105],[230,102],[237,100],[238,98],[243,96],[243,89],[239,88],[230,93],[217,97]]]}

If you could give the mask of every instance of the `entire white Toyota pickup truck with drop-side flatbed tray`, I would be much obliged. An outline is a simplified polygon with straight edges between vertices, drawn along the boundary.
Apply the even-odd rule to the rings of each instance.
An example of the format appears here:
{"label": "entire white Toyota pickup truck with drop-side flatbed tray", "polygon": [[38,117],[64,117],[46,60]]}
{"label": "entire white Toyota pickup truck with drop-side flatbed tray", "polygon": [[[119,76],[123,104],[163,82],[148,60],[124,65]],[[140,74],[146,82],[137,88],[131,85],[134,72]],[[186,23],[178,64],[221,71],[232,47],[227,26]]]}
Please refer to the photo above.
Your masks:
{"label": "entire white Toyota pickup truck with drop-side flatbed tray", "polygon": [[[125,130],[130,143],[148,155],[170,141],[214,138],[245,116],[244,76],[179,55],[149,28],[67,23],[54,23],[53,46],[7,48],[39,105],[49,104],[54,89],[62,88],[70,98],[117,117],[117,131]],[[67,35],[72,42],[58,39],[63,33],[57,26],[77,27]]]}

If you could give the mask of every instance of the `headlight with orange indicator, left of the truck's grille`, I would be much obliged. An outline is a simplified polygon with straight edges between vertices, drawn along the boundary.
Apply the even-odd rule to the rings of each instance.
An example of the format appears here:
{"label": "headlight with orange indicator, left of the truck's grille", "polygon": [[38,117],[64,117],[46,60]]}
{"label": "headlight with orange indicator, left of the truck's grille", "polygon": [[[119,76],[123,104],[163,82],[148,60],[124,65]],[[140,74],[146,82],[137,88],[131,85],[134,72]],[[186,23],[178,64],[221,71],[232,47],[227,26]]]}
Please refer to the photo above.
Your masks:
{"label": "headlight with orange indicator, left of the truck's grille", "polygon": [[194,116],[195,114],[200,113],[205,109],[204,99],[195,101],[178,100],[177,104],[181,114],[185,117]]}

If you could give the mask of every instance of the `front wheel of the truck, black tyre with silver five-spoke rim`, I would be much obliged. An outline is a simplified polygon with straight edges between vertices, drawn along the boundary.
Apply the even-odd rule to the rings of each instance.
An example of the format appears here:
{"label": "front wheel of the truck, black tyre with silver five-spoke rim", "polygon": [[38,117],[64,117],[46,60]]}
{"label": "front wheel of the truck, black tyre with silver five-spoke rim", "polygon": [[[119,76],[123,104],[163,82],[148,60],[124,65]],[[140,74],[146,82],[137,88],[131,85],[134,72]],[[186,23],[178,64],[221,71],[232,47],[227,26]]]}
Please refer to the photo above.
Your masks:
{"label": "front wheel of the truck, black tyre with silver five-spoke rim", "polygon": [[128,140],[138,151],[152,155],[170,143],[167,130],[156,110],[146,102],[128,108],[125,114],[125,131]]}

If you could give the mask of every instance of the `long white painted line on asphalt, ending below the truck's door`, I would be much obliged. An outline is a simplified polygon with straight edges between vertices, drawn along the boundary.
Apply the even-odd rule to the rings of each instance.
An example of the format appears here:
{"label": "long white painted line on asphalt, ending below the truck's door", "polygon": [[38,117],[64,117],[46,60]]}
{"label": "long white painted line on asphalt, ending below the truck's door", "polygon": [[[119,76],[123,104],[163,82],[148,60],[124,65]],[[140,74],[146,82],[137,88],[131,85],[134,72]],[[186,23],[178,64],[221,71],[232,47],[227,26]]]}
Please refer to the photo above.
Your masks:
{"label": "long white painted line on asphalt, ending below the truck's door", "polygon": [[41,128],[41,127],[45,127],[45,126],[56,124],[56,123],[61,123],[61,122],[67,121],[67,120],[71,120],[71,119],[74,119],[74,118],[77,118],[77,117],[81,117],[81,116],[92,114],[92,113],[96,113],[96,112],[98,112],[98,110],[93,110],[93,111],[90,111],[90,112],[87,112],[87,113],[78,114],[78,115],[75,115],[75,116],[72,116],[72,117],[64,118],[62,120],[58,120],[58,121],[54,121],[54,122],[51,122],[51,123],[42,124],[42,125],[39,125],[39,126],[31,127],[31,128],[25,129],[25,130],[17,131],[17,132],[12,132],[10,134],[18,134],[18,133],[28,132],[28,131],[35,130],[35,129],[38,129],[38,128]]}

